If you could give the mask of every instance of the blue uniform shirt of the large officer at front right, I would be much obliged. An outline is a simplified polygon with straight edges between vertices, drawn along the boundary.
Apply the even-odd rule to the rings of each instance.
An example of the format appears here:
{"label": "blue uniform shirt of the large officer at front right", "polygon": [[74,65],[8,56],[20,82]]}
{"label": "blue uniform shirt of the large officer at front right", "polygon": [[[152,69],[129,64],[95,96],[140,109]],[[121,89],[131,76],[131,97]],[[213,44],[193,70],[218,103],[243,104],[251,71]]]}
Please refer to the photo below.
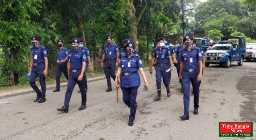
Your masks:
{"label": "blue uniform shirt of the large officer at front right", "polygon": [[202,61],[203,57],[199,48],[192,46],[190,51],[187,48],[181,50],[181,62],[184,62],[184,69],[199,68],[198,61],[200,60]]}

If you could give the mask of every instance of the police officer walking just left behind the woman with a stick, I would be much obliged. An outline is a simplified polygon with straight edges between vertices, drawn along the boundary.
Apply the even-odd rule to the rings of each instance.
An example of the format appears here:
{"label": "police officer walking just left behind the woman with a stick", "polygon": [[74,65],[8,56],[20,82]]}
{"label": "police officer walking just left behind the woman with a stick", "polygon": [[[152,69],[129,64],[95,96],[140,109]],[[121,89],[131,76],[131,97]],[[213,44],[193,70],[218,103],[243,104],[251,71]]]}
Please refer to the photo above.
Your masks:
{"label": "police officer walking just left behind the woman with a stick", "polygon": [[101,67],[103,67],[103,60],[105,60],[104,73],[108,82],[108,89],[106,90],[106,92],[110,92],[112,91],[110,76],[113,78],[113,80],[115,80],[115,66],[118,65],[116,59],[119,55],[119,52],[117,45],[112,43],[112,36],[107,36],[105,40],[108,44],[105,45],[103,49]]}

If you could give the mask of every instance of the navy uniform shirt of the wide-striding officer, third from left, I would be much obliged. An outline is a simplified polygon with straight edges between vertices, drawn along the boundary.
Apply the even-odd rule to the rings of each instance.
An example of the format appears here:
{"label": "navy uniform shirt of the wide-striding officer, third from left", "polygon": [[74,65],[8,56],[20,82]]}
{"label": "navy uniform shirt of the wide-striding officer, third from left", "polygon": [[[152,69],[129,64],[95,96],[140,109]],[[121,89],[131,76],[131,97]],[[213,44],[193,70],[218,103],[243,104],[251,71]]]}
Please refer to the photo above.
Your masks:
{"label": "navy uniform shirt of the wide-striding officer, third from left", "polygon": [[70,62],[70,69],[81,69],[82,63],[87,61],[87,57],[81,49],[77,49],[75,52],[71,49],[68,51],[68,61]]}

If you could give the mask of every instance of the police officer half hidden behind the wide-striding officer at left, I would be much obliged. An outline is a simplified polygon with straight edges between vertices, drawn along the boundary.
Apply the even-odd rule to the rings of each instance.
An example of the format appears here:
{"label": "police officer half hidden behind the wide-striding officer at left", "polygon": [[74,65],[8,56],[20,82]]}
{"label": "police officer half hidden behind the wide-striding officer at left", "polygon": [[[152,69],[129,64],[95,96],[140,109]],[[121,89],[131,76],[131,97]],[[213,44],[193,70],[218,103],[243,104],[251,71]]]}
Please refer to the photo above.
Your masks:
{"label": "police officer half hidden behind the wide-striding officer at left", "polygon": [[[85,74],[84,74],[85,90],[87,92],[88,85],[87,85],[86,72],[87,72],[88,64],[89,64],[90,70],[92,70],[92,65],[91,65],[90,51],[87,47],[84,47],[84,38],[80,38],[79,48],[83,50],[83,52],[86,54],[86,57],[87,57],[87,60],[88,60],[88,61],[86,61],[86,68],[85,68]],[[78,92],[80,92],[80,91],[78,91]]]}

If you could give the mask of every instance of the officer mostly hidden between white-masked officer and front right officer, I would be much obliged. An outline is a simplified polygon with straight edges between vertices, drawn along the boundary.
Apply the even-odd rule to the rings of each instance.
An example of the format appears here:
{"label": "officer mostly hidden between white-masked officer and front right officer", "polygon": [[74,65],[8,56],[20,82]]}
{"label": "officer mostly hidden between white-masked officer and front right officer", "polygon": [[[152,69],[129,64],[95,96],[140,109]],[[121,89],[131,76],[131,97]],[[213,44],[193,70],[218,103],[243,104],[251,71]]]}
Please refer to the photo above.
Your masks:
{"label": "officer mostly hidden between white-masked officer and front right officer", "polygon": [[[181,50],[185,48],[185,44],[184,42],[182,43],[182,45],[178,45],[176,48],[175,48],[175,51],[173,52],[173,55],[172,55],[172,58],[174,60],[174,65],[176,66],[177,68],[177,73],[178,73],[178,77],[179,77],[179,73],[180,73],[180,57],[181,57]],[[182,84],[181,84],[181,89],[180,89],[180,93],[183,93],[183,88],[182,88]]]}

